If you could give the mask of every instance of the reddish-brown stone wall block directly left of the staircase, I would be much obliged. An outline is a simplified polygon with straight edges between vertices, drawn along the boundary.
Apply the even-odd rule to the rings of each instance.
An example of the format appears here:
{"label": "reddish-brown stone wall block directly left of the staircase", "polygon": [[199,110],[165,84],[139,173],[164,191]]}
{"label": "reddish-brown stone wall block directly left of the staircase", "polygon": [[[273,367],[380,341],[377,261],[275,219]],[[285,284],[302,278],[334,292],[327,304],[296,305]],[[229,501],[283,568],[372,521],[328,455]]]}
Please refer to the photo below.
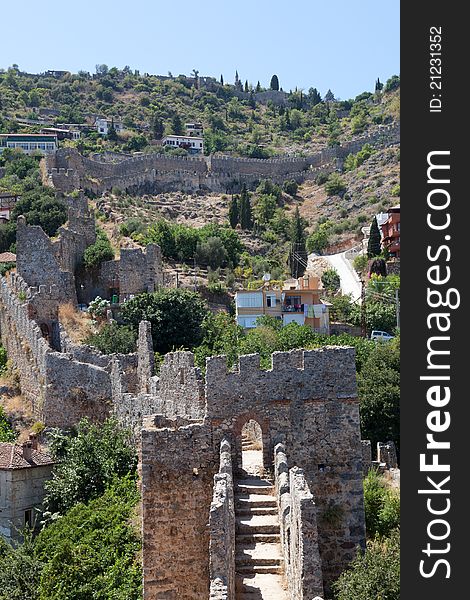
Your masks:
{"label": "reddish-brown stone wall block directly left of the staircase", "polygon": [[204,423],[148,419],[142,429],[144,600],[209,597],[209,513],[219,446]]}

